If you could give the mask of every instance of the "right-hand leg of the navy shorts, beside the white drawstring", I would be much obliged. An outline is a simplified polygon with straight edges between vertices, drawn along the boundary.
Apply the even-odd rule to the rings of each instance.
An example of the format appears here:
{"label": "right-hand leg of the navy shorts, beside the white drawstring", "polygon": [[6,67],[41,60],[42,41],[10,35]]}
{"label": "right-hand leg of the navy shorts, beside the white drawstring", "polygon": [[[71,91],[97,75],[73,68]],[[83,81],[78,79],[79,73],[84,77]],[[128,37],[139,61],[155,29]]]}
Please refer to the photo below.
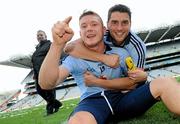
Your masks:
{"label": "right-hand leg of the navy shorts, beside the white drawstring", "polygon": [[115,116],[110,120],[114,121],[140,116],[157,102],[150,92],[149,84],[144,84],[128,93],[118,93],[111,99]]}

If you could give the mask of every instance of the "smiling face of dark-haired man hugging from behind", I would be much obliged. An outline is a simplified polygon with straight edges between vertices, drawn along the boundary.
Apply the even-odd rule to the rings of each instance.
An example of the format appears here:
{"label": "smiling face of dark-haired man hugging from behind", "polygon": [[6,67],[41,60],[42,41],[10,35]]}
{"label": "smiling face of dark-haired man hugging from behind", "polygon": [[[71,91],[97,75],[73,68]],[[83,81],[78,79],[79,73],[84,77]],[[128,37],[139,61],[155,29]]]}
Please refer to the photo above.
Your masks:
{"label": "smiling face of dark-haired man hugging from behind", "polygon": [[128,13],[118,11],[111,13],[107,27],[116,44],[121,45],[131,28],[131,20]]}

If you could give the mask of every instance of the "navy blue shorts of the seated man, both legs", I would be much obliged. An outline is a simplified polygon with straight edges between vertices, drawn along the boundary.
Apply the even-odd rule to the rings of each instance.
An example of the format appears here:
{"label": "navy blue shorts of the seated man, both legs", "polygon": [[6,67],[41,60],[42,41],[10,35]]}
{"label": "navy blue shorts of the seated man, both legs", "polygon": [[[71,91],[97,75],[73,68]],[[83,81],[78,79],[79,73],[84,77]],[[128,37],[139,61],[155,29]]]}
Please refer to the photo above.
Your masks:
{"label": "navy blue shorts of the seated man, both legs", "polygon": [[157,100],[150,93],[149,84],[144,84],[128,93],[120,91],[105,91],[113,112],[110,110],[101,93],[94,94],[82,100],[75,108],[71,116],[79,111],[90,112],[98,124],[105,124],[109,120],[122,120],[136,117],[146,112]]}

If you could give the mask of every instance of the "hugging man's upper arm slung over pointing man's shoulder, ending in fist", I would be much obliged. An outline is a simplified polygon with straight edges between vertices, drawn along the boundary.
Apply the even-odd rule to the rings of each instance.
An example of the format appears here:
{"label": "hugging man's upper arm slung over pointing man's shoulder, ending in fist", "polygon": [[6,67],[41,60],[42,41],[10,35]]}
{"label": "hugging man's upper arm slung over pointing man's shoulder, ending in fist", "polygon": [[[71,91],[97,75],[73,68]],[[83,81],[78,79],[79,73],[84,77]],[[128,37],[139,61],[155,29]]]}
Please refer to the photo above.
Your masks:
{"label": "hugging man's upper arm slung over pointing man's shoulder, ending in fist", "polygon": [[71,43],[68,43],[64,51],[71,56],[92,61],[100,61],[113,68],[119,65],[118,55],[106,55],[90,51],[84,46],[81,39],[77,39]]}

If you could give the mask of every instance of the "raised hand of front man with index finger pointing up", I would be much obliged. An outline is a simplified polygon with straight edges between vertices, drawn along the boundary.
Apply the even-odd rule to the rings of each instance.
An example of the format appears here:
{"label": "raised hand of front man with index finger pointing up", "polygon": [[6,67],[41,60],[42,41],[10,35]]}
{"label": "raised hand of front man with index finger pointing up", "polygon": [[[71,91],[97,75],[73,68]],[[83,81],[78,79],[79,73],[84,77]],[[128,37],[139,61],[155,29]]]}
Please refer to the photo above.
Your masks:
{"label": "raised hand of front man with index finger pointing up", "polygon": [[52,27],[53,42],[57,45],[64,45],[70,41],[74,35],[73,30],[69,27],[72,17],[69,16],[63,21],[58,21]]}

